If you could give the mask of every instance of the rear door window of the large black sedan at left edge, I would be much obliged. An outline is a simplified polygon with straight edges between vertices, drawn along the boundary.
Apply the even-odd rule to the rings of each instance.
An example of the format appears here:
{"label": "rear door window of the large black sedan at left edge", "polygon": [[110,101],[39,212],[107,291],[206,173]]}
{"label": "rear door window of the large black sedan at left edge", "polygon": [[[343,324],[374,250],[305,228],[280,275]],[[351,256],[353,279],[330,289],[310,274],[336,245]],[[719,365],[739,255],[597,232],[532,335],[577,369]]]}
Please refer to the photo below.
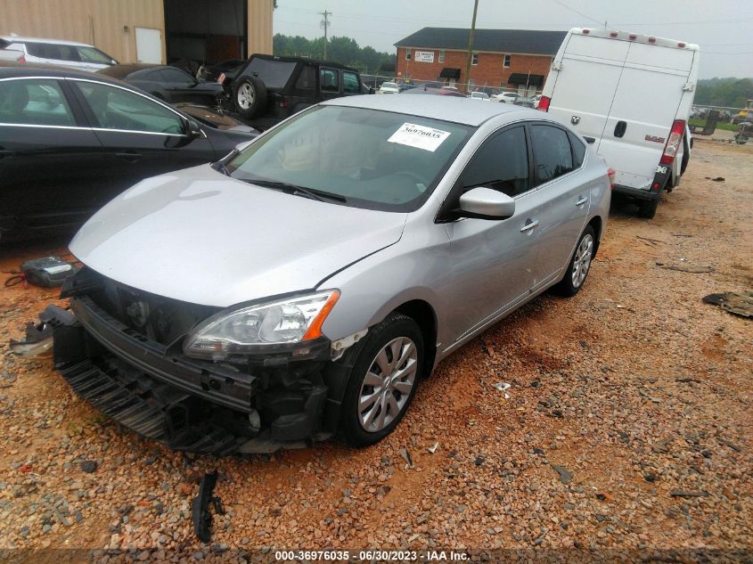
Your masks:
{"label": "rear door window of the large black sedan at left edge", "polygon": [[0,123],[76,126],[57,80],[0,80]]}

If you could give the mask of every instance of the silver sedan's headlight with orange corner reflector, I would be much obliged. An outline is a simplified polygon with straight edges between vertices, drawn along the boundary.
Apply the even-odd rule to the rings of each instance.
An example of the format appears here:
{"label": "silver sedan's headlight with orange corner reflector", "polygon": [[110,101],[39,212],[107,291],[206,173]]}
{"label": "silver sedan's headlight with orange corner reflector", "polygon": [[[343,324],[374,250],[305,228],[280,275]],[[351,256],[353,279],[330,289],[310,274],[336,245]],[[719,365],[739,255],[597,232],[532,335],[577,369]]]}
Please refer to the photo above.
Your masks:
{"label": "silver sedan's headlight with orange corner reflector", "polygon": [[322,336],[322,323],[338,298],[338,290],[324,290],[221,311],[189,333],[183,351],[194,358],[225,360],[258,353],[265,346],[316,339]]}

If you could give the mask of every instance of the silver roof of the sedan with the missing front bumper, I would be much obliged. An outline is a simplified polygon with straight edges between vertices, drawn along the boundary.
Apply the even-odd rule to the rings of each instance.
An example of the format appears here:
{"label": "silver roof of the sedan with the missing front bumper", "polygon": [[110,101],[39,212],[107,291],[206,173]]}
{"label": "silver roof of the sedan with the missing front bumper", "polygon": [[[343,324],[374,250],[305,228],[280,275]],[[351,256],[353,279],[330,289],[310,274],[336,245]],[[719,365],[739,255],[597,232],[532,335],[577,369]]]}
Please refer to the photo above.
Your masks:
{"label": "silver roof of the sedan with the missing front bumper", "polygon": [[361,96],[333,98],[332,100],[323,102],[323,105],[394,111],[421,118],[454,121],[455,123],[474,127],[480,126],[487,119],[502,114],[526,112],[531,117],[542,117],[541,113],[537,110],[504,103],[479,104],[479,102],[472,102],[465,96],[458,98],[454,96],[406,96],[405,94],[380,96],[364,94]]}

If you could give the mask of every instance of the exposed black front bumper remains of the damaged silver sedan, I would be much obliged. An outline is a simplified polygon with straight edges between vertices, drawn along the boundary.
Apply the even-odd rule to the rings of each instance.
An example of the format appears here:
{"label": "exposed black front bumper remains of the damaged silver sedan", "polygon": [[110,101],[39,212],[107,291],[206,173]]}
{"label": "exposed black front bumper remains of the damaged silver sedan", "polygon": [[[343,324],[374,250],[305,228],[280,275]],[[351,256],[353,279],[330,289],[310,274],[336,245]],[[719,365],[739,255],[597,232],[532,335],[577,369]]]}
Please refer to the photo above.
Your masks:
{"label": "exposed black front bumper remains of the damaged silver sedan", "polygon": [[270,453],[336,430],[345,381],[329,341],[306,360],[216,364],[148,339],[87,295],[70,306],[47,308],[55,368],[78,396],[144,437],[197,453]]}

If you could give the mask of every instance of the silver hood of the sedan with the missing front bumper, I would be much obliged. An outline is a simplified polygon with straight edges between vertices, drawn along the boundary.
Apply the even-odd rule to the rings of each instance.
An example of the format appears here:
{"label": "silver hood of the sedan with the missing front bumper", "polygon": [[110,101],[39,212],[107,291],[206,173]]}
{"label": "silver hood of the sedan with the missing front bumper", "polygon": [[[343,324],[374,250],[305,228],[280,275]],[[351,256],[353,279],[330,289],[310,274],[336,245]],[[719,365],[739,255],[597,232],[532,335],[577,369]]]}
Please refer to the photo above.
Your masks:
{"label": "silver hood of the sedan with the missing front bumper", "polygon": [[203,165],[120,194],[70,250],[139,290],[228,307],[317,287],[399,241],[406,217],[261,188]]}

